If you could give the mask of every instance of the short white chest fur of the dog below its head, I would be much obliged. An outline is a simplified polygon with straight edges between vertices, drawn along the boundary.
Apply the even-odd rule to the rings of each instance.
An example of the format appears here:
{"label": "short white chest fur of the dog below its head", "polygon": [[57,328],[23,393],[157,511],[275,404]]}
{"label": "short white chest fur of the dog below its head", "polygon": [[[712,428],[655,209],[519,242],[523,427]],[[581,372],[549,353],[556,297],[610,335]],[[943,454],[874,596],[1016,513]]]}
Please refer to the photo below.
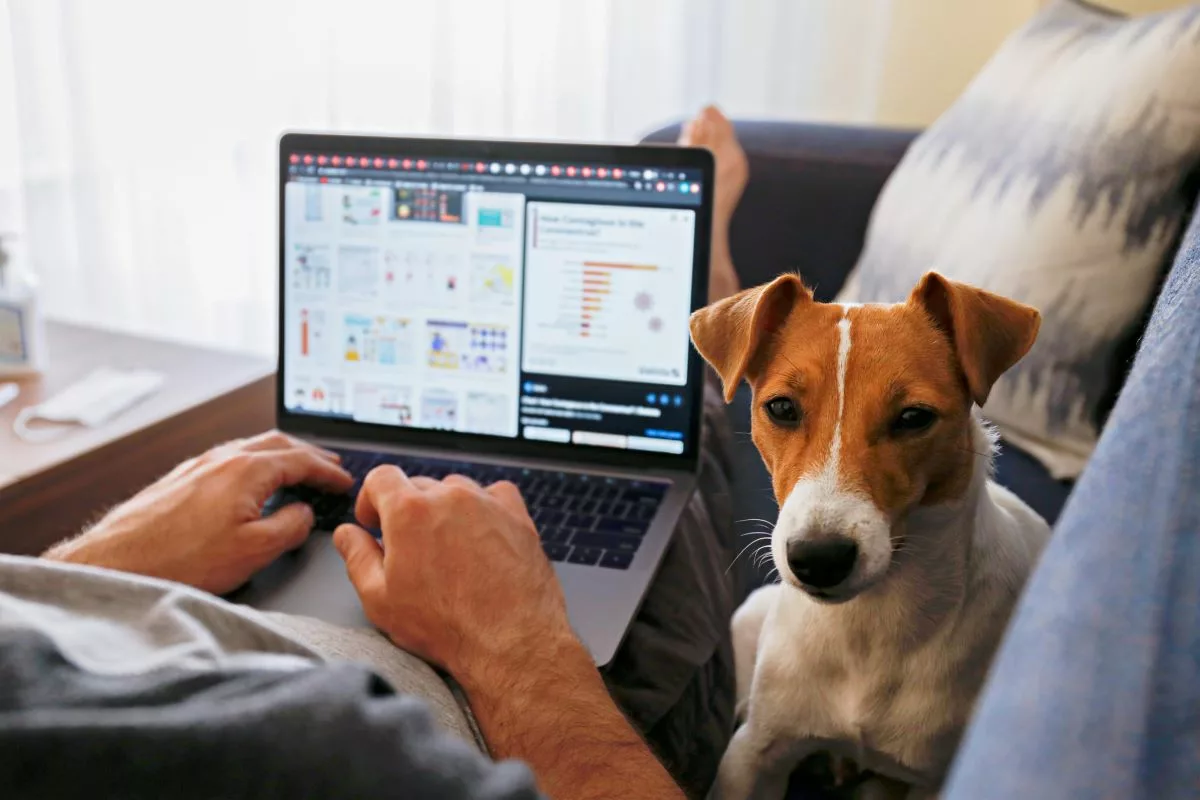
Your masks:
{"label": "short white chest fur of the dog below its head", "polygon": [[1030,522],[995,500],[994,518],[976,521],[985,530],[964,531],[964,582],[944,597],[922,595],[931,576],[918,572],[842,606],[780,587],[758,642],[755,724],[862,769],[940,783],[1040,545],[1034,528],[1027,547],[1019,531]]}

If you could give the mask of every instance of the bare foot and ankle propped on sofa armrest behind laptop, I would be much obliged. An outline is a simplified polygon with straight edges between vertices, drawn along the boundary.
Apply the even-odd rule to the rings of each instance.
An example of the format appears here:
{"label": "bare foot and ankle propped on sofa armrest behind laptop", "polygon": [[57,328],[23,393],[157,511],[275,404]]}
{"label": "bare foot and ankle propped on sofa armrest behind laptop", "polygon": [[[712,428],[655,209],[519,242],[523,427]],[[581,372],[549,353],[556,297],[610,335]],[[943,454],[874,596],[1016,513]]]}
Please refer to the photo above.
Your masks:
{"label": "bare foot and ankle propped on sofa armrest behind laptop", "polygon": [[740,287],[730,253],[730,223],[738,207],[750,167],[746,154],[738,144],[733,125],[714,106],[708,106],[683,126],[679,144],[708,148],[716,162],[716,185],[713,197],[713,248],[708,279],[708,300],[713,302],[734,294]]}

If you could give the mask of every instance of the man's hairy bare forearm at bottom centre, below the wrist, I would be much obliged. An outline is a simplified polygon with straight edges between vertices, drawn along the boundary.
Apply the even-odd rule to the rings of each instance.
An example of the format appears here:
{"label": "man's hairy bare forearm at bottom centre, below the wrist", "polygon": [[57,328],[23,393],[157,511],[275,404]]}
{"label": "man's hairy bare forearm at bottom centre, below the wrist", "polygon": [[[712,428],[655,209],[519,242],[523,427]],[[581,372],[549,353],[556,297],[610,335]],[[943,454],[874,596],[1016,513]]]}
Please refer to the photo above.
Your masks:
{"label": "man's hairy bare forearm at bottom centre, below the wrist", "polygon": [[493,658],[461,682],[496,758],[526,762],[554,800],[683,798],[582,644]]}

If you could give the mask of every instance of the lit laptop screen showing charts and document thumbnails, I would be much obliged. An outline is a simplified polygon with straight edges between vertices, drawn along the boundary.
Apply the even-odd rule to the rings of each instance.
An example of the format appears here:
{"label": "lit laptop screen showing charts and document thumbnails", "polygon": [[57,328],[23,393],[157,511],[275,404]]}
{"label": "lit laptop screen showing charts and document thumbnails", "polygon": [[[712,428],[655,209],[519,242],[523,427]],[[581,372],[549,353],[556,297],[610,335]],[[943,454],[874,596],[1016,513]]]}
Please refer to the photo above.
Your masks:
{"label": "lit laptop screen showing charts and document thumbnails", "polygon": [[283,164],[288,413],[690,450],[701,169],[353,139]]}

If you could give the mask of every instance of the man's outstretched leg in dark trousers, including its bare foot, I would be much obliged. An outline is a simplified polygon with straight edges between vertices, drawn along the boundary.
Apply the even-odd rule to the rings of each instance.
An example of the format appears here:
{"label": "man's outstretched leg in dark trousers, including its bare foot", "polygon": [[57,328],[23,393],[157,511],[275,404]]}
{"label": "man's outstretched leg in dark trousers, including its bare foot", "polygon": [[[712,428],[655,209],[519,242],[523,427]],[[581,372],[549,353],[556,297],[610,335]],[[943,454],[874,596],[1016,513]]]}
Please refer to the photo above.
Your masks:
{"label": "man's outstretched leg in dark trousers, including its bare foot", "polygon": [[[746,181],[733,126],[704,109],[680,144],[709,148],[716,160],[710,300],[738,290],[730,222]],[[716,776],[734,722],[730,618],[737,604],[730,474],[733,433],[715,380],[704,392],[700,482],[625,644],[605,670],[622,709],[690,796]]]}

